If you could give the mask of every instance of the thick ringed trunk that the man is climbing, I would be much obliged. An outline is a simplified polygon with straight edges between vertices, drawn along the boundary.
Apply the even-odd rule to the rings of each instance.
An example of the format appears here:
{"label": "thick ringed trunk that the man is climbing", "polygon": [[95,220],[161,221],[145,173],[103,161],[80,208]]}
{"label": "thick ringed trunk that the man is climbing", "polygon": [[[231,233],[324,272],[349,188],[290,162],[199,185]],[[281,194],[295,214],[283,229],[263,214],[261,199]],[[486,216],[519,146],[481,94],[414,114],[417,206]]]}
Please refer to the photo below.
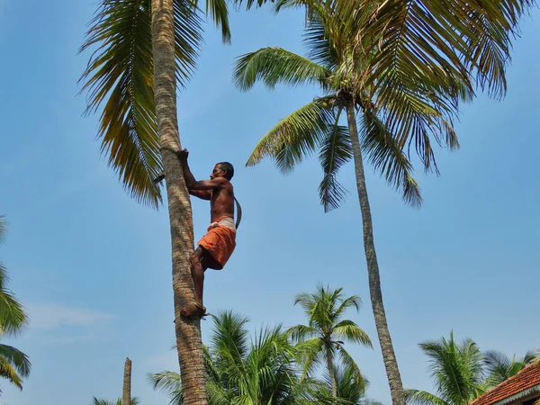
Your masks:
{"label": "thick ringed trunk that the man is climbing", "polygon": [[175,332],[185,405],[206,405],[201,321],[184,320],[180,310],[194,299],[189,257],[193,252],[193,217],[180,160],[176,118],[174,0],[151,0],[152,50],[157,130],[166,175],[171,227]]}

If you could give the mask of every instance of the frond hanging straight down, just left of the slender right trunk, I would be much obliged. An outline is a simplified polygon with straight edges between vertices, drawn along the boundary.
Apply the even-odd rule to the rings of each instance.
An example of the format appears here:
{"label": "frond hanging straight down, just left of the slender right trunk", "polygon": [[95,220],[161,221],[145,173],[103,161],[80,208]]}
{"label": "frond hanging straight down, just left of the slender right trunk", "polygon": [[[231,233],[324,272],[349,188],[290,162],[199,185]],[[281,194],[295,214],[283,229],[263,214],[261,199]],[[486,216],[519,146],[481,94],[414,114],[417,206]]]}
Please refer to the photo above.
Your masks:
{"label": "frond hanging straight down, just left of the slender right trunk", "polygon": [[319,196],[325,212],[338,208],[345,199],[347,190],[339,184],[337,175],[341,166],[353,157],[348,129],[338,124],[340,113],[341,109],[333,127],[328,129],[320,144],[319,161],[323,178],[319,185]]}

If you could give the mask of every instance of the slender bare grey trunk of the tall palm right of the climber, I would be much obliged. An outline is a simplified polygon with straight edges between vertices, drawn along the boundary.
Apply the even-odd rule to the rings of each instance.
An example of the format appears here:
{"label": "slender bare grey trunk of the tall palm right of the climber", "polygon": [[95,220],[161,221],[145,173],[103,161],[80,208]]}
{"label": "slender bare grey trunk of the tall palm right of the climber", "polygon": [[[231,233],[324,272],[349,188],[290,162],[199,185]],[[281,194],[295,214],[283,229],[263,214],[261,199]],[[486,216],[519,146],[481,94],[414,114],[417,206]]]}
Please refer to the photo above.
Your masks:
{"label": "slender bare grey trunk of the tall palm right of the climber", "polygon": [[360,200],[360,210],[362,211],[362,222],[364,224],[365,259],[367,261],[369,292],[374,311],[375,326],[377,328],[377,335],[379,336],[381,351],[383,352],[388,383],[390,384],[392,404],[405,405],[400,369],[398,368],[398,361],[393,350],[392,338],[390,337],[386,313],[384,312],[381,277],[379,275],[379,264],[377,263],[377,255],[375,253],[374,226],[369,208],[367,189],[365,187],[364,163],[362,161],[362,150],[356,127],[355,107],[352,101],[347,102],[347,121],[355,159],[356,187],[358,189],[358,199]]}

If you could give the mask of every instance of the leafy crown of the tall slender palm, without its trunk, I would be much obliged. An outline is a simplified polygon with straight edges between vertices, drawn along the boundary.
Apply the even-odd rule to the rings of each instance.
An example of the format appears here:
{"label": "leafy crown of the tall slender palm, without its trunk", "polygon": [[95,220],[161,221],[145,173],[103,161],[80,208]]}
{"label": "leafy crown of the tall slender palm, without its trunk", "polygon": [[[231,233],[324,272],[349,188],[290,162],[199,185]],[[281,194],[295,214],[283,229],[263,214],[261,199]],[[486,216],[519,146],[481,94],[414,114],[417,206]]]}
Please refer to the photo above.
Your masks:
{"label": "leafy crown of the tall slender palm, without its trunk", "polygon": [[304,35],[308,58],[280,48],[259,49],[238,58],[234,80],[241,90],[251,88],[258,80],[271,89],[277,84],[319,84],[323,92],[320,98],[279,121],[257,144],[247,166],[272,157],[287,173],[304,157],[320,150],[320,201],[325,211],[337,208],[347,195],[338,183],[338,170],[352,157],[349,129],[339,124],[345,107],[343,95],[347,95],[364,111],[360,114],[360,135],[367,159],[388,184],[402,189],[406,202],[419,206],[419,184],[412,178],[410,160],[388,123],[379,117],[383,112],[368,102],[366,89],[355,87],[359,71],[352,63],[347,41],[337,34],[335,19],[325,12],[315,6],[311,10]]}

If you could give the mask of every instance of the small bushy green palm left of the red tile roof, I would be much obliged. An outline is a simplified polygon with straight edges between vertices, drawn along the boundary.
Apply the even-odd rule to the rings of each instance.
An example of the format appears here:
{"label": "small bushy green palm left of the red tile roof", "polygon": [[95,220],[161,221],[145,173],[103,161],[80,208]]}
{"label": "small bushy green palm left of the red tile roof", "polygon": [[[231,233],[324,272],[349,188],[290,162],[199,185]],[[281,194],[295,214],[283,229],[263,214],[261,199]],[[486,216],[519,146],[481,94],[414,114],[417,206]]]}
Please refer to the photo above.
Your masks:
{"label": "small bushy green palm left of the red tile roof", "polygon": [[440,338],[421,343],[429,357],[429,369],[437,394],[406,390],[408,403],[418,405],[466,405],[486,391],[482,351],[470,338],[455,342]]}

